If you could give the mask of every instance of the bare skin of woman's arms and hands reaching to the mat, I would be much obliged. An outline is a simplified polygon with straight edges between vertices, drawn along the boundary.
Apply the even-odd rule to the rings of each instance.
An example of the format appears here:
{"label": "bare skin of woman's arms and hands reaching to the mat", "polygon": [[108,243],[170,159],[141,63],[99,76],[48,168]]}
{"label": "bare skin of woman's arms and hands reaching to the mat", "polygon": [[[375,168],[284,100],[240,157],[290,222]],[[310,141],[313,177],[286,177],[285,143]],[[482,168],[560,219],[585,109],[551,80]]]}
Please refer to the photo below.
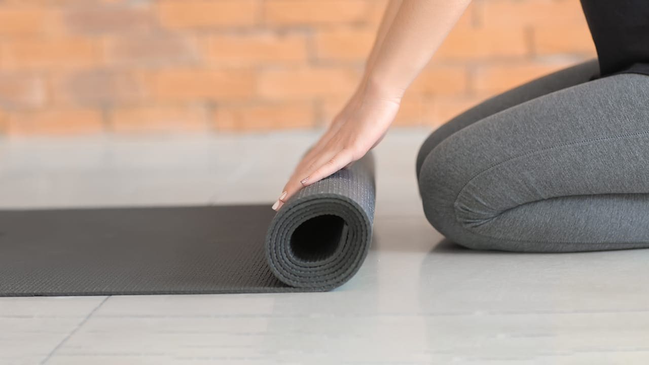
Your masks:
{"label": "bare skin of woman's arms and hands reaching to the mat", "polygon": [[470,2],[389,1],[356,92],[299,162],[274,210],[304,186],[350,166],[382,140],[404,92]]}

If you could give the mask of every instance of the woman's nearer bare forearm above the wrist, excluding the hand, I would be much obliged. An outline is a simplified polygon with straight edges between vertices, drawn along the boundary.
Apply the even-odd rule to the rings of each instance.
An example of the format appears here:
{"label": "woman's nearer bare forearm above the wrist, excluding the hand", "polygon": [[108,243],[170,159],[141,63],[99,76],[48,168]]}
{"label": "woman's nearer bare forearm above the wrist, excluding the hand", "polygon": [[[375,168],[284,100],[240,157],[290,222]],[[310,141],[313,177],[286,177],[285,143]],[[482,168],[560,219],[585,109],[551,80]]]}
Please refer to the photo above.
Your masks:
{"label": "woman's nearer bare forearm above the wrist, excluding the hand", "polygon": [[366,87],[400,98],[470,2],[403,0],[365,71]]}

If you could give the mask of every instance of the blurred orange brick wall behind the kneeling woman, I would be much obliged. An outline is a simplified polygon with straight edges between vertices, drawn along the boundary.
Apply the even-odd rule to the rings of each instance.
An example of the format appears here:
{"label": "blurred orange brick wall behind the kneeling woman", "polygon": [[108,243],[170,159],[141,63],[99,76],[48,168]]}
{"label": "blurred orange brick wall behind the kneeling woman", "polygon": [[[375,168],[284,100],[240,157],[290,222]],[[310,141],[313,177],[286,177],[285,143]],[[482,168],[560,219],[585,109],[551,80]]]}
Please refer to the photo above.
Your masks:
{"label": "blurred orange brick wall behind the kneeling woman", "polygon": [[[324,125],[385,0],[0,0],[3,134]],[[578,0],[474,0],[398,125],[438,125],[594,57]]]}

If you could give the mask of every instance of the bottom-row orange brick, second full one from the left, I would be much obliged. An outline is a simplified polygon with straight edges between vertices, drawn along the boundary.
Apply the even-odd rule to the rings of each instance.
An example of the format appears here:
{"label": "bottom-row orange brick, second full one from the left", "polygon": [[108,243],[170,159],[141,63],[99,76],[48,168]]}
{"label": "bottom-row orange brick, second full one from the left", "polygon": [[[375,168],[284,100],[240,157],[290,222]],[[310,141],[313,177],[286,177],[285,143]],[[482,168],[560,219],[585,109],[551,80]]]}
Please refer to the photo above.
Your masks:
{"label": "bottom-row orange brick, second full one from the left", "polygon": [[208,129],[204,107],[129,107],[110,112],[115,132],[196,132]]}

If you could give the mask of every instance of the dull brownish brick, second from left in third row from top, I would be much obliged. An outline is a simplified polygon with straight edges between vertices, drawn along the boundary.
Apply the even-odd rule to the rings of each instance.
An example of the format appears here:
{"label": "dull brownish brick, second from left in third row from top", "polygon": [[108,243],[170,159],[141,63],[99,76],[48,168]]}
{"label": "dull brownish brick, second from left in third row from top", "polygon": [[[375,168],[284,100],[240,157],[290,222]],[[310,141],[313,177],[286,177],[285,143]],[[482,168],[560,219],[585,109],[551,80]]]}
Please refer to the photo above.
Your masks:
{"label": "dull brownish brick, second from left in third row from top", "polygon": [[110,106],[138,103],[145,97],[143,81],[129,71],[78,71],[53,77],[54,102]]}

